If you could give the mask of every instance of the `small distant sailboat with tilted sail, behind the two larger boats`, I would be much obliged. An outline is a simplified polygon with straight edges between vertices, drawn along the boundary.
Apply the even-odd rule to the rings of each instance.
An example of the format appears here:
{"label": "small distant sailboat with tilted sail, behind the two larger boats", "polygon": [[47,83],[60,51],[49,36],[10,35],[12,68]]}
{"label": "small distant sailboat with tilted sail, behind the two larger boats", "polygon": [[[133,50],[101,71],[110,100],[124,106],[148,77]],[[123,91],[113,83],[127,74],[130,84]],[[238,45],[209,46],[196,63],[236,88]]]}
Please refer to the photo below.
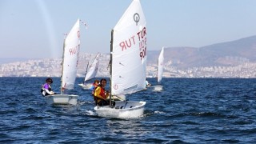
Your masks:
{"label": "small distant sailboat with tilted sail, behind the two larger boats", "polygon": [[[96,76],[96,74],[98,72],[98,59],[99,59],[99,56],[100,56],[100,54],[98,53],[95,56],[94,61],[91,63],[90,66],[89,66],[89,62],[87,63],[84,82],[78,84],[83,89],[90,89],[90,87],[93,86],[92,83],[86,83],[86,81],[89,81],[90,79],[95,78],[95,76]],[[89,66],[89,68],[88,68],[88,66]]]}

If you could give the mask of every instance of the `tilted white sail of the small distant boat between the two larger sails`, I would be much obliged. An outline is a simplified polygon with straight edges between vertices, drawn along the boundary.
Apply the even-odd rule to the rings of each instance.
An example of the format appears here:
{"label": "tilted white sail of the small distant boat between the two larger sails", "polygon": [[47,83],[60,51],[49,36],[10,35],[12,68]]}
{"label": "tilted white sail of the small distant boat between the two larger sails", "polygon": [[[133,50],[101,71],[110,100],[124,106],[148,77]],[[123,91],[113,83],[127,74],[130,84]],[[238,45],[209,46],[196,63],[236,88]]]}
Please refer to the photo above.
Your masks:
{"label": "tilted white sail of the small distant boat between the two larger sails", "polygon": [[95,78],[97,72],[98,72],[98,59],[99,59],[100,54],[97,54],[96,57],[94,58],[94,62],[89,66],[89,68],[86,71],[86,77],[85,81],[90,80],[91,78]]}

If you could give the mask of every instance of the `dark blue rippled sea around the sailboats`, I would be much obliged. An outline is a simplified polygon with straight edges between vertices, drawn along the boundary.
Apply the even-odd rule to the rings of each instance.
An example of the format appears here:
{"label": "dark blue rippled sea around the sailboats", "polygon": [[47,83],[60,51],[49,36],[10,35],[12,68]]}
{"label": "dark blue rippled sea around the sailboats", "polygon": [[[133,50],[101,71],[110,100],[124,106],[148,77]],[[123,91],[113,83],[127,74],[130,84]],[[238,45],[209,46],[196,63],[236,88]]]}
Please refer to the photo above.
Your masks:
{"label": "dark blue rippled sea around the sailboats", "polygon": [[77,106],[47,105],[45,80],[0,78],[0,143],[256,143],[255,78],[163,78],[162,91],[127,95],[146,106],[125,119],[98,117],[83,78],[69,91]]}

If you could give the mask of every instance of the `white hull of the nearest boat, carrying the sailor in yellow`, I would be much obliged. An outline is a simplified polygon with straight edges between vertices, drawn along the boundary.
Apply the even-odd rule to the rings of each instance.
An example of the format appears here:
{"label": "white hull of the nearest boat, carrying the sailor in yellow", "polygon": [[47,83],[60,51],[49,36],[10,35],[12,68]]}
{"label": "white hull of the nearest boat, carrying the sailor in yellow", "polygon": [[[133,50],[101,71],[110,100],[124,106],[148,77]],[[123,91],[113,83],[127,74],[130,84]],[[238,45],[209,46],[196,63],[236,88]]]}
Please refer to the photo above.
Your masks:
{"label": "white hull of the nearest boat, carrying the sailor in yellow", "polygon": [[99,117],[107,118],[138,118],[144,113],[146,102],[116,101],[114,108],[110,106],[95,106]]}

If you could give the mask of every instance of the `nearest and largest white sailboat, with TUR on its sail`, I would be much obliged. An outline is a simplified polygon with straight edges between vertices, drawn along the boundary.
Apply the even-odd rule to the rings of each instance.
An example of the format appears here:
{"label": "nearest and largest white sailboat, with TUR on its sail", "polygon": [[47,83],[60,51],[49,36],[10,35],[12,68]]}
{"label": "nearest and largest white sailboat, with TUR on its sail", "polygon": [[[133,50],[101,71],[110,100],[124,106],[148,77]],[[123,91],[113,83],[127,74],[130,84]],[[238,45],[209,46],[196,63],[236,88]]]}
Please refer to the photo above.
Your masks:
{"label": "nearest and largest white sailboat, with TUR on its sail", "polygon": [[[139,0],[134,0],[111,33],[110,99],[145,89],[146,18]],[[111,103],[111,101],[110,101]],[[146,102],[115,101],[115,106],[95,106],[100,117],[138,118]]]}

